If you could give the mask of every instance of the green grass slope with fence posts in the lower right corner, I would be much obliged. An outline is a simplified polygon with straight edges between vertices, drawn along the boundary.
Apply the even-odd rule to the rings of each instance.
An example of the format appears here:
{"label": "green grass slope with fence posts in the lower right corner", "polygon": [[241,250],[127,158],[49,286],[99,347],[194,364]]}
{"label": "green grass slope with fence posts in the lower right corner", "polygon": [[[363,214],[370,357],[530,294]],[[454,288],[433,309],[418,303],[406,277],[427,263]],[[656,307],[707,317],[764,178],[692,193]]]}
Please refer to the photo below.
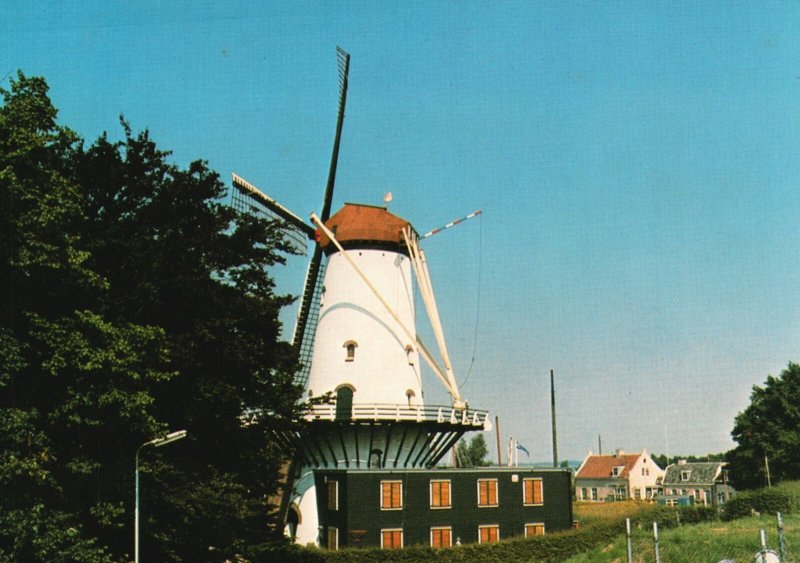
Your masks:
{"label": "green grass slope with fence posts in the lower right corner", "polygon": [[[800,560],[800,516],[783,518],[787,561]],[[659,555],[664,563],[708,563],[730,559],[752,561],[760,549],[760,530],[767,534],[767,547],[778,551],[777,520],[774,515],[741,518],[732,522],[706,522],[659,530]],[[637,563],[655,561],[652,527],[632,532],[633,559]],[[598,546],[567,560],[569,563],[627,561],[624,530],[613,543]]]}

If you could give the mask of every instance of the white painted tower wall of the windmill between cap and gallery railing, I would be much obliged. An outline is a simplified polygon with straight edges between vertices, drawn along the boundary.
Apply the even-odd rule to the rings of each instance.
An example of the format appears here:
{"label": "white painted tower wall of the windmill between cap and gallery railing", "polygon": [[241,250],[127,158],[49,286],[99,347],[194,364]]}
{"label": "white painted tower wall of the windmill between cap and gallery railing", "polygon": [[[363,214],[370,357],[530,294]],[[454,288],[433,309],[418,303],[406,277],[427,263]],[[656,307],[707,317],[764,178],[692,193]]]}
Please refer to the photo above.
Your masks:
{"label": "white painted tower wall of the windmill between cap and gallery railing", "polygon": [[[416,339],[411,262],[389,250],[346,250]],[[354,344],[352,359],[347,345]],[[415,341],[392,318],[340,252],[328,258],[314,340],[308,391],[314,396],[342,385],[353,405],[423,404]]]}

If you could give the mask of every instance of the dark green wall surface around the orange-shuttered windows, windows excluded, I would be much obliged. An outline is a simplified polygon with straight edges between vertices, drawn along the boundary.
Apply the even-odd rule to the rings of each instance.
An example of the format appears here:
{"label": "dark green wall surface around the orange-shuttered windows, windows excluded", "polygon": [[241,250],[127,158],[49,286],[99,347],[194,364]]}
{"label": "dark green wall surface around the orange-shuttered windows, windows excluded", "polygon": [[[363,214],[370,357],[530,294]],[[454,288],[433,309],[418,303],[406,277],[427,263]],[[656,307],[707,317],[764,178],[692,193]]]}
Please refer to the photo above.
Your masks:
{"label": "dark green wall surface around the orange-shuttered windows, windows excluded", "polygon": [[[512,481],[516,475],[518,481]],[[522,480],[541,478],[544,491],[542,506],[523,506]],[[478,479],[496,478],[498,506],[478,507]],[[354,545],[351,531],[363,530],[358,545],[380,546],[382,528],[402,528],[403,544],[430,544],[433,526],[451,526],[453,542],[478,541],[478,526],[498,524],[500,538],[524,534],[524,524],[543,522],[547,532],[572,526],[571,473],[560,469],[484,468],[431,469],[409,471],[383,470],[318,470],[315,472],[319,522],[322,537],[327,527],[339,529],[339,545]],[[326,480],[339,482],[339,510],[328,511]],[[381,510],[380,483],[383,480],[403,482],[403,509]],[[452,507],[430,507],[430,481],[451,481]]]}

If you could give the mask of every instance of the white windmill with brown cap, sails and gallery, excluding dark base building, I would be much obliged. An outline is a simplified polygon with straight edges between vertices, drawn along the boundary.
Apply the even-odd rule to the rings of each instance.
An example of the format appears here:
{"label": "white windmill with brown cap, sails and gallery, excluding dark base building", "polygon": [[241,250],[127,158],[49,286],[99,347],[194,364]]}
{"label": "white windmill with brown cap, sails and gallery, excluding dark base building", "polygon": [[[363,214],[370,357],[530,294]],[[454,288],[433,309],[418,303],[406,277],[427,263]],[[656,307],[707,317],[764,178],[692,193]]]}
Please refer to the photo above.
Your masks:
{"label": "white windmill with brown cap, sails and gallery, excluding dark base building", "polygon": [[[294,344],[308,397],[333,402],[312,408],[303,431],[276,436],[299,477],[281,510],[301,543],[317,541],[316,468],[426,468],[470,430],[488,426],[456,385],[425,255],[408,221],[384,207],[345,204],[328,217],[347,93],[349,55],[339,49],[341,90],[334,150],[316,229],[234,175],[234,186],[303,236],[317,241],[306,276]],[[327,258],[327,261],[323,259]],[[414,286],[422,297],[440,360],[416,332]],[[451,395],[449,405],[424,402],[420,358]],[[291,506],[290,506],[291,504]]]}

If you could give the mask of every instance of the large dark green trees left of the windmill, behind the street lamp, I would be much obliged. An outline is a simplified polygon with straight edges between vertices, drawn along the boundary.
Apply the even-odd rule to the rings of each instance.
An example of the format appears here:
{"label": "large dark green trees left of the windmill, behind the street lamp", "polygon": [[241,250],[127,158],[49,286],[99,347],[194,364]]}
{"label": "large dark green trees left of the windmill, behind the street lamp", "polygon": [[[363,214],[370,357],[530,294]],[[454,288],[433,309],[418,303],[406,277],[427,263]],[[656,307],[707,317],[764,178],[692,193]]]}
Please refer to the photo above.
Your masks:
{"label": "large dark green trees left of the windmill, behind the street lamp", "polygon": [[[220,203],[206,164],[147,132],[88,148],[43,79],[0,107],[0,561],[233,558],[265,541],[297,365],[278,341],[272,223]],[[261,413],[244,425],[245,409]],[[31,530],[35,530],[35,533]],[[209,551],[209,547],[214,549]]]}

